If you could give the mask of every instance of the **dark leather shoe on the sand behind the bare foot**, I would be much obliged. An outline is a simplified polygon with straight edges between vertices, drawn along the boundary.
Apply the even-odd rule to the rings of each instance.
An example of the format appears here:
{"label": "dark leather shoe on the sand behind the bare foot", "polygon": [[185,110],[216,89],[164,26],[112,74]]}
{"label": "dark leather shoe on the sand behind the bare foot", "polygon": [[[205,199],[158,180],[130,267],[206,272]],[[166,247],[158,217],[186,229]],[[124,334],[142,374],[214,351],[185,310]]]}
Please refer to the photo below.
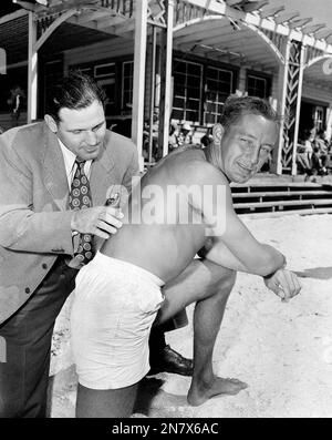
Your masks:
{"label": "dark leather shoe on the sand behind the bare foot", "polygon": [[193,376],[193,360],[184,358],[179,352],[166,346],[157,358],[149,359],[151,370],[148,375],[158,372],[174,372],[175,375]]}

